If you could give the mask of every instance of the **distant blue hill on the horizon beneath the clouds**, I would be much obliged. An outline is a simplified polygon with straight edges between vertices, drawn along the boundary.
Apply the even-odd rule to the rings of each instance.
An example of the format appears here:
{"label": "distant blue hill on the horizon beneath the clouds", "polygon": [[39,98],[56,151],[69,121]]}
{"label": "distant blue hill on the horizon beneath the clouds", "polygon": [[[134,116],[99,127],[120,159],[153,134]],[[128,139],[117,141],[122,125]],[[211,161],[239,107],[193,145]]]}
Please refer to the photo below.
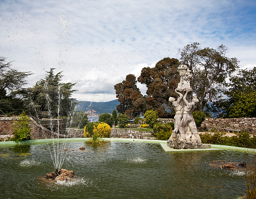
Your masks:
{"label": "distant blue hill on the horizon beneath the clouds", "polygon": [[77,111],[89,111],[92,109],[96,111],[97,114],[102,113],[112,113],[113,110],[116,110],[116,106],[120,104],[117,99],[106,102],[94,102],[94,101],[78,101],[80,102],[77,105]]}

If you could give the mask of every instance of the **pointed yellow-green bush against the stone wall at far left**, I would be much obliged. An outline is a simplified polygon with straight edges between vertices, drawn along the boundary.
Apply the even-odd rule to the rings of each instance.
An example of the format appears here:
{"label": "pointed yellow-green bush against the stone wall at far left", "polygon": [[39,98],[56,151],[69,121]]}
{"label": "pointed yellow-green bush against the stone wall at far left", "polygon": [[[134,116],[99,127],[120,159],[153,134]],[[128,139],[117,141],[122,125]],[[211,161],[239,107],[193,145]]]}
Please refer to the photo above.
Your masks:
{"label": "pointed yellow-green bush against the stone wall at far left", "polygon": [[29,117],[25,114],[23,111],[20,116],[18,117],[18,120],[16,121],[16,124],[14,125],[14,138],[11,140],[15,142],[20,142],[23,140],[29,140],[30,139],[30,131],[31,128],[29,126]]}

